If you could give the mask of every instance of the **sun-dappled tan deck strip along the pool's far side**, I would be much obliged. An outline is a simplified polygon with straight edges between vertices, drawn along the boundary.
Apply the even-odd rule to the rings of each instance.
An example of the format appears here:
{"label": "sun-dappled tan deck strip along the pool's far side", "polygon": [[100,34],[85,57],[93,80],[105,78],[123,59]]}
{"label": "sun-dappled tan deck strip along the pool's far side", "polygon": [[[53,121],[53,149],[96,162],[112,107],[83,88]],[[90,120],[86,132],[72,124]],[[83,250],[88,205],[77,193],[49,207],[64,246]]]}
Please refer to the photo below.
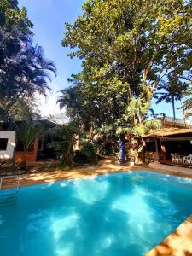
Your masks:
{"label": "sun-dappled tan deck strip along the pool's far side", "polygon": [[[79,177],[87,177],[94,175],[103,175],[114,172],[129,172],[129,171],[150,171],[150,172],[161,172],[179,177],[190,177],[192,178],[192,169],[187,169],[177,166],[166,166],[160,165],[159,163],[152,163],[149,166],[120,166],[113,164],[111,160],[104,160],[99,166],[86,166],[82,168],[74,168],[69,171],[45,171],[38,173],[29,173],[20,175],[20,187],[30,186],[37,183],[51,183],[64,179],[73,179]],[[3,189],[13,188],[13,180],[7,177],[6,181],[3,182]]]}

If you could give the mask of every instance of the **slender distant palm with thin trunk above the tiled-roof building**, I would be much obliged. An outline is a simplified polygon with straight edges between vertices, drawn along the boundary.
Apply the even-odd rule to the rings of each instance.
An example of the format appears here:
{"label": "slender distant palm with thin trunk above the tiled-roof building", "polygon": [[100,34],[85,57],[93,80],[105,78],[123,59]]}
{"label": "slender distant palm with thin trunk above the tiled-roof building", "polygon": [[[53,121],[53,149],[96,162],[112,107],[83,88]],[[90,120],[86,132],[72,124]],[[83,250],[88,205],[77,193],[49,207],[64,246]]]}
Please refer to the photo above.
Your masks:
{"label": "slender distant palm with thin trunk above the tiled-roof building", "polygon": [[181,84],[169,84],[168,82],[163,82],[157,88],[157,90],[164,90],[158,91],[154,93],[154,98],[157,99],[156,104],[160,102],[167,102],[172,103],[172,113],[174,124],[176,122],[176,113],[175,113],[175,102],[181,101],[183,97],[184,88]]}

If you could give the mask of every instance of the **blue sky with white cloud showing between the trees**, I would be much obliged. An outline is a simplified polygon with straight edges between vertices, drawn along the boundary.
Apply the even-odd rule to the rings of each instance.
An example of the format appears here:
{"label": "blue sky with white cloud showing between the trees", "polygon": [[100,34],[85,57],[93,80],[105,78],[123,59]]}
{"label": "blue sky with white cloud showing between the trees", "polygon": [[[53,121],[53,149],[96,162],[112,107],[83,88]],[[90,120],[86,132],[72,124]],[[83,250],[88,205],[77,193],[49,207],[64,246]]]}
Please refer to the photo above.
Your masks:
{"label": "blue sky with white cloud showing between the trees", "polygon": [[[52,89],[50,95],[46,100],[39,97],[40,110],[43,115],[60,113],[56,105],[58,91],[66,88],[69,85],[67,78],[81,69],[81,62],[68,58],[69,49],[61,46],[64,23],[73,22],[78,15],[81,15],[84,0],[19,0],[19,3],[20,7],[26,7],[28,17],[34,24],[34,43],[44,47],[46,57],[54,61],[57,67],[57,77],[53,78],[50,84]],[[180,105],[178,104],[177,107]],[[171,104],[156,105],[153,102],[152,108],[155,113],[166,113],[167,116],[172,116]],[[177,117],[182,117],[181,110],[177,110]]]}

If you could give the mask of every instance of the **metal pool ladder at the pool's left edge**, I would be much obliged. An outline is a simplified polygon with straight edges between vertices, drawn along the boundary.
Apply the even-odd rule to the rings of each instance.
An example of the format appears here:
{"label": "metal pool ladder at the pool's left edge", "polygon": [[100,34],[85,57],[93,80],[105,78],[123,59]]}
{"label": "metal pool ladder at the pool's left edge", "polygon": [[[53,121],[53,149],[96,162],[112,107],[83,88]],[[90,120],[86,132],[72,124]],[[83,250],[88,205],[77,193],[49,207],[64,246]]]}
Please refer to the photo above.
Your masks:
{"label": "metal pool ladder at the pool's left edge", "polygon": [[[15,187],[11,189],[3,189],[3,182],[5,180],[15,180]],[[16,177],[2,177],[0,178],[0,207],[8,207],[13,205],[17,199],[18,189],[20,185],[19,175]]]}

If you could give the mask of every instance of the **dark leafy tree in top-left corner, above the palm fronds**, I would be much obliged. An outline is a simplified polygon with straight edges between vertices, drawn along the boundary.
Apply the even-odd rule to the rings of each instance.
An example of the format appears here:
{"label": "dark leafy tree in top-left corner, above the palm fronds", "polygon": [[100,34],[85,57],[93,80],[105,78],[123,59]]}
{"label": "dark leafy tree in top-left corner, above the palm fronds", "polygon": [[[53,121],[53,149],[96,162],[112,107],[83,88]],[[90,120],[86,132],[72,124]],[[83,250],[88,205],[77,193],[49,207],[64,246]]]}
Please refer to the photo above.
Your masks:
{"label": "dark leafy tree in top-left corner, above the palm fronds", "polygon": [[17,0],[1,0],[0,2],[0,68],[11,63],[28,36],[32,36],[32,22],[28,19],[26,8],[19,9]]}

